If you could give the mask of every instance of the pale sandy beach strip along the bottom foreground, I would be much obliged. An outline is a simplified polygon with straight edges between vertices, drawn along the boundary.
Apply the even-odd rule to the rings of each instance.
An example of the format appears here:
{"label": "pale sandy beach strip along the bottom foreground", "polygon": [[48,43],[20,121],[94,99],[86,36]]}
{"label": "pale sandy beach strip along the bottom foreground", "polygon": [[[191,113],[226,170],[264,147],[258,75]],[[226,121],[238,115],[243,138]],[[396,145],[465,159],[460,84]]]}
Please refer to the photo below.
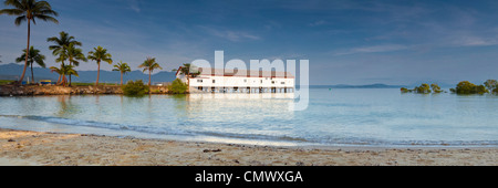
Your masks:
{"label": "pale sandy beach strip along the bottom foreground", "polygon": [[498,148],[294,148],[0,129],[0,166],[497,166]]}

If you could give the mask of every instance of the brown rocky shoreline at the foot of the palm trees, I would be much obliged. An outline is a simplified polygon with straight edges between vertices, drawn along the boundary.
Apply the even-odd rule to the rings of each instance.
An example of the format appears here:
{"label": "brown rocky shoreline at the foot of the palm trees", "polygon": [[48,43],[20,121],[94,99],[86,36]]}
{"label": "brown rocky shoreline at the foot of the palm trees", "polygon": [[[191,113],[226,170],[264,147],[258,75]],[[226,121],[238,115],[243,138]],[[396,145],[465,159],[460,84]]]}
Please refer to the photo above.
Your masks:
{"label": "brown rocky shoreline at the foot of the palm trees", "polygon": [[[166,86],[151,86],[152,94],[167,94]],[[59,85],[0,85],[0,96],[34,96],[34,95],[85,95],[85,94],[123,94],[120,85],[71,86]]]}

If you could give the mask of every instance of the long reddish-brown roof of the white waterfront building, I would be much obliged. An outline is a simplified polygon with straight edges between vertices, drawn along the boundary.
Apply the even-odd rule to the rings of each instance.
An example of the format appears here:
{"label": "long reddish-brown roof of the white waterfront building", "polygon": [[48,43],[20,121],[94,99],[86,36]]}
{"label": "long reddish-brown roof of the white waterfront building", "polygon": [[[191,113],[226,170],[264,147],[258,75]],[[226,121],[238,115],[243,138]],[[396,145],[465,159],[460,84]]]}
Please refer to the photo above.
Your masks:
{"label": "long reddish-brown roof of the white waterfront building", "polygon": [[[180,66],[181,69],[181,66]],[[179,70],[179,69],[178,69]],[[199,76],[241,76],[241,77],[284,77],[294,79],[290,72],[256,71],[256,70],[222,70],[199,67]],[[177,72],[178,74],[178,72]]]}

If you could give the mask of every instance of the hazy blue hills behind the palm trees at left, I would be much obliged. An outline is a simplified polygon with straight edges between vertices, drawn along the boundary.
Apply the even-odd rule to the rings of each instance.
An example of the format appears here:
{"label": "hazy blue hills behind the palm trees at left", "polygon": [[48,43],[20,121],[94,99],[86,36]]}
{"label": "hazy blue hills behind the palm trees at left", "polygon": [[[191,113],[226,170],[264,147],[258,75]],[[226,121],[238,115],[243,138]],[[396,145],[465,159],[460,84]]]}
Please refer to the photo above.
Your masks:
{"label": "hazy blue hills behind the palm trees at left", "polygon": [[[0,80],[18,80],[22,73],[23,65],[10,63],[0,65]],[[51,73],[49,69],[33,67],[34,80],[52,80],[56,81],[59,74]],[[79,71],[80,77],[72,76],[72,82],[92,83],[95,82],[97,71]],[[25,76],[30,76],[30,69],[27,70]],[[176,79],[175,72],[158,72],[152,75],[153,82],[173,82]],[[132,71],[123,76],[123,82],[131,80],[148,81],[148,74],[144,74],[142,71]],[[118,83],[121,81],[120,72],[117,71],[103,71],[101,70],[100,81],[101,83]]]}

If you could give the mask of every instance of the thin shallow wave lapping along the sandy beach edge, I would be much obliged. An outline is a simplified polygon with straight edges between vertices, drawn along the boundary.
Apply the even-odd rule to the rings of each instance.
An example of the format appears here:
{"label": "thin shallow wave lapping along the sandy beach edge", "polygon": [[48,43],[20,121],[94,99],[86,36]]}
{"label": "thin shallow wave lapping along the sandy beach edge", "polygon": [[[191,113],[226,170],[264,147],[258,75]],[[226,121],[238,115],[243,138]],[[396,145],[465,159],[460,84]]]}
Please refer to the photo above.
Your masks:
{"label": "thin shallow wave lapping along the sandy beach edge", "polygon": [[94,122],[70,119],[51,116],[19,116],[19,115],[0,115],[0,117],[23,118],[30,121],[39,121],[53,124],[62,124],[69,126],[84,126],[95,128],[107,128],[113,130],[132,130],[145,134],[155,135],[177,135],[177,136],[212,136],[220,138],[236,138],[250,140],[277,140],[277,142],[292,142],[301,144],[321,144],[321,145],[354,145],[354,146],[480,146],[480,147],[496,147],[497,140],[381,140],[373,138],[356,138],[356,137],[292,137],[292,136],[274,136],[262,134],[236,134],[236,133],[218,133],[218,132],[196,132],[184,129],[172,129],[167,127],[149,127],[138,125],[125,125],[116,123]]}

